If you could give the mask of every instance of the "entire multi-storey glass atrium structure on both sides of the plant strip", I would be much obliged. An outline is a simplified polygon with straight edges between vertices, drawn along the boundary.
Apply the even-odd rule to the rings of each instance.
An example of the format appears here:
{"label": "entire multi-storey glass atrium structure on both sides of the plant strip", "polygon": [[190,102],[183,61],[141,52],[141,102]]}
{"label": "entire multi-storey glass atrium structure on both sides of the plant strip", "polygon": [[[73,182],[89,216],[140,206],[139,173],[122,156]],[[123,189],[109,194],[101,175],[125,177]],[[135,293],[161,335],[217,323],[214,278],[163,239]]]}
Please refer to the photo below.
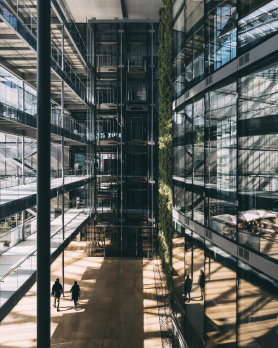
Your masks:
{"label": "entire multi-storey glass atrium structure on both sides of the plant strip", "polygon": [[[51,261],[154,258],[161,2],[93,5],[51,0]],[[36,281],[37,24],[0,1],[1,320]],[[173,347],[276,347],[278,0],[173,0],[172,26]]]}

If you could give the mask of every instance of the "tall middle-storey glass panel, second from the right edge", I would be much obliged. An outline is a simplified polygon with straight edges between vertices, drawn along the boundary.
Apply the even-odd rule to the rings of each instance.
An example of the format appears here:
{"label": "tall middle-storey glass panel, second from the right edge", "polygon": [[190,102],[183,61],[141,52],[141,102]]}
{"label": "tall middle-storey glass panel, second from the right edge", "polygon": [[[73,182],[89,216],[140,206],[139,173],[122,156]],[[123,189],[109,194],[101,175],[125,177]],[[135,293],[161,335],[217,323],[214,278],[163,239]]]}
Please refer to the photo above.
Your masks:
{"label": "tall middle-storey glass panel, second from the right edge", "polygon": [[[206,97],[207,98],[207,97]],[[209,93],[209,228],[236,238],[236,84]]]}

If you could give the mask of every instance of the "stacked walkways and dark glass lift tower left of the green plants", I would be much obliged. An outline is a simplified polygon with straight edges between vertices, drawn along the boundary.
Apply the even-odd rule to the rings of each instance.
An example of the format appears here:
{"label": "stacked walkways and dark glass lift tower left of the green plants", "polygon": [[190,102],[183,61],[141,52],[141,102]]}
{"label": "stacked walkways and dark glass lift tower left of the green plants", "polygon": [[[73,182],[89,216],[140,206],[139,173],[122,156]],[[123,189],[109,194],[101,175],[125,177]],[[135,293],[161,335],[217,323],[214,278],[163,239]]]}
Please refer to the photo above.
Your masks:
{"label": "stacked walkways and dark glass lift tower left of the green plants", "polygon": [[[51,1],[51,260],[76,236],[88,256],[153,258],[160,5],[83,5]],[[0,4],[1,318],[36,279],[37,10]]]}

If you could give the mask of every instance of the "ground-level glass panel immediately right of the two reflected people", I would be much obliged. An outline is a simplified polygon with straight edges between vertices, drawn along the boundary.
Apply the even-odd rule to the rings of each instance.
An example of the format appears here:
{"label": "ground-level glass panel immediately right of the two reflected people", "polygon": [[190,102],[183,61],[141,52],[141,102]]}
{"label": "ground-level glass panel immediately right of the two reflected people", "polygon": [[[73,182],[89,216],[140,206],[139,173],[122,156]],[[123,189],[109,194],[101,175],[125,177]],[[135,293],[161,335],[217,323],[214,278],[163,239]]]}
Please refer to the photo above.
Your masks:
{"label": "ground-level glass panel immediately right of the two reflected people", "polygon": [[206,347],[236,348],[236,259],[206,241]]}

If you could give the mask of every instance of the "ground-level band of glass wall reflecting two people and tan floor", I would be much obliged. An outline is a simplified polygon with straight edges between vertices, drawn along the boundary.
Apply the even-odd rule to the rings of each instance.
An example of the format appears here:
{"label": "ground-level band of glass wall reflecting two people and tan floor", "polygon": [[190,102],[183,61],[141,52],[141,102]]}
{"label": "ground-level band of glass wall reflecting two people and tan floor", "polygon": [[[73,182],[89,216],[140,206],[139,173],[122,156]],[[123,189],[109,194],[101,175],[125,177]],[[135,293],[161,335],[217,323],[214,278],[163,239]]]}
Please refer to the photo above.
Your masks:
{"label": "ground-level band of glass wall reflecting two people and tan floor", "polygon": [[172,251],[174,347],[276,347],[277,280],[178,223]]}

